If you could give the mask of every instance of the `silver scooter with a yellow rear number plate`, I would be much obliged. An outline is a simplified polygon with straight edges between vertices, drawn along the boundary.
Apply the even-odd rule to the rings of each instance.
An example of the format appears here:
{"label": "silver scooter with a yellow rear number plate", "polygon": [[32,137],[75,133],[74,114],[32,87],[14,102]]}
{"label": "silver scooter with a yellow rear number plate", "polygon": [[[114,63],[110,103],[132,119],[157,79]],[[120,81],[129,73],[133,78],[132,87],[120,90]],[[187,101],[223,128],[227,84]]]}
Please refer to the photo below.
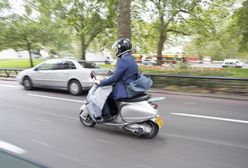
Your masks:
{"label": "silver scooter with a yellow rear number plate", "polygon": [[86,107],[87,100],[80,108],[80,121],[86,127],[94,127],[95,124],[111,126],[134,133],[146,139],[154,138],[163,126],[163,119],[159,115],[158,105],[154,102],[164,100],[165,97],[151,98],[149,94],[143,94],[131,99],[116,101],[117,115],[108,122],[97,122]]}

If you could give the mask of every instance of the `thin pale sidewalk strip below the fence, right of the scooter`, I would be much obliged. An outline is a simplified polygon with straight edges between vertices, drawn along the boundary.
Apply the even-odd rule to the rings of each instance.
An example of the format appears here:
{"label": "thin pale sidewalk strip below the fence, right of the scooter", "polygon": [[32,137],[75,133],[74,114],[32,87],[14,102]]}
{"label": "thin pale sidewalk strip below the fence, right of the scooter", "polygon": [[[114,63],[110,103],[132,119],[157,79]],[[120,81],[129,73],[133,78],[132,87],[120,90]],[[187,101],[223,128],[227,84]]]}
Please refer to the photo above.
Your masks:
{"label": "thin pale sidewalk strip below the fence, right of the scooter", "polygon": [[218,93],[189,93],[180,91],[170,91],[162,90],[157,88],[152,88],[150,93],[160,93],[167,95],[185,95],[185,96],[195,96],[195,97],[209,97],[209,98],[219,98],[219,99],[231,99],[231,100],[242,100],[248,101],[248,96],[236,95],[236,94],[218,94]]}

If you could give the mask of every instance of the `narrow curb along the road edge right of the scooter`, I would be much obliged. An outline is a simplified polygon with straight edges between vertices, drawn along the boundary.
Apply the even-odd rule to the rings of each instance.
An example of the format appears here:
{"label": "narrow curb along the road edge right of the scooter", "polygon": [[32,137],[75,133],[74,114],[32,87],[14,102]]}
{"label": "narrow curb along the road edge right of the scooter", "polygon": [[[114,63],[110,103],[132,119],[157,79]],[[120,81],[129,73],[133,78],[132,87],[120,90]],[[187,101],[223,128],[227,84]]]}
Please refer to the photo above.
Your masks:
{"label": "narrow curb along the road edge right of the scooter", "polygon": [[183,96],[194,96],[194,97],[206,97],[206,98],[216,98],[216,99],[229,99],[229,100],[240,100],[248,101],[248,96],[238,96],[238,95],[218,95],[218,94],[196,94],[196,93],[185,93],[185,92],[171,92],[166,90],[151,90],[149,93],[160,93],[168,95],[183,95]]}

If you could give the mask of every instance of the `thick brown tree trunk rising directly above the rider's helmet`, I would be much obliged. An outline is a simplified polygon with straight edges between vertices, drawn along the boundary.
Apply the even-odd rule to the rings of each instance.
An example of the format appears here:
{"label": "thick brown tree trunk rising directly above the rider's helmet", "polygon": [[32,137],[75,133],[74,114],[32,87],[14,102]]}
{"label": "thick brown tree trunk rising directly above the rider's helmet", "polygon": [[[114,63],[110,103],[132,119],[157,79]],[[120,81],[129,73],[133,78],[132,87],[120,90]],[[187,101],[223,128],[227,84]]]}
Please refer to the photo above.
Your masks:
{"label": "thick brown tree trunk rising directly above the rider's helmet", "polygon": [[118,38],[131,39],[131,0],[118,0]]}

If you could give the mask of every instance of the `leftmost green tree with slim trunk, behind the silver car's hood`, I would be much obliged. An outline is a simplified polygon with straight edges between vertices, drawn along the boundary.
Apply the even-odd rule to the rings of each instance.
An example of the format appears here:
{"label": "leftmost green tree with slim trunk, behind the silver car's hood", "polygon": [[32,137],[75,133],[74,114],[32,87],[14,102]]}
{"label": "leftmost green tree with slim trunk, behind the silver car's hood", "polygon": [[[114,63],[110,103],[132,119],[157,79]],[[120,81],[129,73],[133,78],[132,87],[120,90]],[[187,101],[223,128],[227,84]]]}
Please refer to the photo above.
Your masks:
{"label": "leftmost green tree with slim trunk, behind the silver car's hood", "polygon": [[61,22],[53,20],[50,16],[39,13],[33,17],[33,10],[37,12],[31,1],[25,0],[23,15],[11,13],[2,23],[0,48],[13,48],[27,50],[30,57],[30,66],[33,67],[32,50],[64,48],[70,43],[68,32]]}

